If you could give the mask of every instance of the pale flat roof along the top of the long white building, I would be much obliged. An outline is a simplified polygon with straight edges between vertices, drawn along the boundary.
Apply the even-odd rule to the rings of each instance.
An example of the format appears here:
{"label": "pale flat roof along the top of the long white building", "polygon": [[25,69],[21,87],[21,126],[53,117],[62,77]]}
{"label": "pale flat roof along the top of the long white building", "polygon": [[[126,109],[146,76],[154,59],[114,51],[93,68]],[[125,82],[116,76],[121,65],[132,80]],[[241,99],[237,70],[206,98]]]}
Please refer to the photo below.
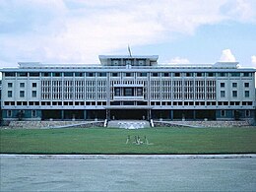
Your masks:
{"label": "pale flat roof along the top of the long white building", "polygon": [[[18,67],[11,68],[6,67],[0,69],[2,72],[6,71],[33,71],[33,70],[41,70],[41,71],[48,71],[48,70],[126,70],[126,66],[118,65],[118,66],[107,66],[106,63],[112,59],[145,59],[150,60],[150,62],[157,63],[159,59],[159,55],[99,55],[98,56],[101,64],[83,64],[83,63],[65,63],[65,64],[57,64],[57,63],[41,63],[41,62],[18,62]],[[136,70],[182,70],[182,71],[251,71],[256,72],[256,68],[253,67],[240,67],[239,62],[216,62],[212,64],[196,64],[196,63],[189,63],[189,64],[174,64],[174,63],[159,63],[152,66],[130,66],[128,70],[136,71]]]}

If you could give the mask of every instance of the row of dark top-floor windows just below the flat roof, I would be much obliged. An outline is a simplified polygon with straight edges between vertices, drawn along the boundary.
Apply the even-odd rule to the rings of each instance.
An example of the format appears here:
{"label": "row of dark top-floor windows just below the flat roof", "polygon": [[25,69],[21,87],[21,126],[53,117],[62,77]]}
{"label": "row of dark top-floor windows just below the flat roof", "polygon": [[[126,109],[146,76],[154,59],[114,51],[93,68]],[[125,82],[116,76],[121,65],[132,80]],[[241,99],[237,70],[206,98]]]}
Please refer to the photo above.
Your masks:
{"label": "row of dark top-floor windows just below the flat roof", "polygon": [[[106,72],[5,72],[5,77],[106,77]],[[149,73],[110,73],[111,77],[147,77]],[[152,77],[251,77],[250,72],[187,72],[187,73],[151,73]]]}

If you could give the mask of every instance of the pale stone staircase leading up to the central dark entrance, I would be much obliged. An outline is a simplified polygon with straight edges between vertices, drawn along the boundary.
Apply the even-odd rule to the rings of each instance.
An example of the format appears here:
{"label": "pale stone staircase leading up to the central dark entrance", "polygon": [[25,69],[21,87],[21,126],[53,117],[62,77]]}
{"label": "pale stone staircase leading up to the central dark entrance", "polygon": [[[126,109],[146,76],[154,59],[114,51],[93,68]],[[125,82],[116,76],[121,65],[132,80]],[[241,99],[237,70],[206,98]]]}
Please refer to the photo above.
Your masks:
{"label": "pale stone staircase leading up to the central dark entrance", "polygon": [[108,121],[107,127],[116,127],[123,129],[140,129],[151,127],[149,121],[144,120],[112,120]]}

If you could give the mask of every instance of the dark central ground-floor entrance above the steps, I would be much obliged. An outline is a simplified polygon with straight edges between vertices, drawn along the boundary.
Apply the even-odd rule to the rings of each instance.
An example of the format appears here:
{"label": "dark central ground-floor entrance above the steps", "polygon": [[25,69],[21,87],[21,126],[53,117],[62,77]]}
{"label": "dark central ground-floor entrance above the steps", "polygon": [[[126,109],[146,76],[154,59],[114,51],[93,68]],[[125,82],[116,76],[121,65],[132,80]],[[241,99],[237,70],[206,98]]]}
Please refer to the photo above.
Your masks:
{"label": "dark central ground-floor entrance above the steps", "polygon": [[112,120],[136,119],[146,120],[148,118],[147,109],[111,109],[110,118]]}

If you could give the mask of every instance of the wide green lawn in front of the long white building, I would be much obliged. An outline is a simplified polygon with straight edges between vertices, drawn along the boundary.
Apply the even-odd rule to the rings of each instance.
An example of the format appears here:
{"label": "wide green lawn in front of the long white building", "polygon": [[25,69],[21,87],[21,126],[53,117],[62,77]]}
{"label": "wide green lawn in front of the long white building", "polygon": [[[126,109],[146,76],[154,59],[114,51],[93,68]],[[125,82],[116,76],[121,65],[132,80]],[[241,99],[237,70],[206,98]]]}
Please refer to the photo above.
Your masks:
{"label": "wide green lawn in front of the long white building", "polygon": [[[127,136],[131,142],[126,144]],[[133,144],[146,136],[152,145]],[[233,154],[256,153],[255,128],[145,128],[138,130],[0,130],[0,153],[15,154]]]}

